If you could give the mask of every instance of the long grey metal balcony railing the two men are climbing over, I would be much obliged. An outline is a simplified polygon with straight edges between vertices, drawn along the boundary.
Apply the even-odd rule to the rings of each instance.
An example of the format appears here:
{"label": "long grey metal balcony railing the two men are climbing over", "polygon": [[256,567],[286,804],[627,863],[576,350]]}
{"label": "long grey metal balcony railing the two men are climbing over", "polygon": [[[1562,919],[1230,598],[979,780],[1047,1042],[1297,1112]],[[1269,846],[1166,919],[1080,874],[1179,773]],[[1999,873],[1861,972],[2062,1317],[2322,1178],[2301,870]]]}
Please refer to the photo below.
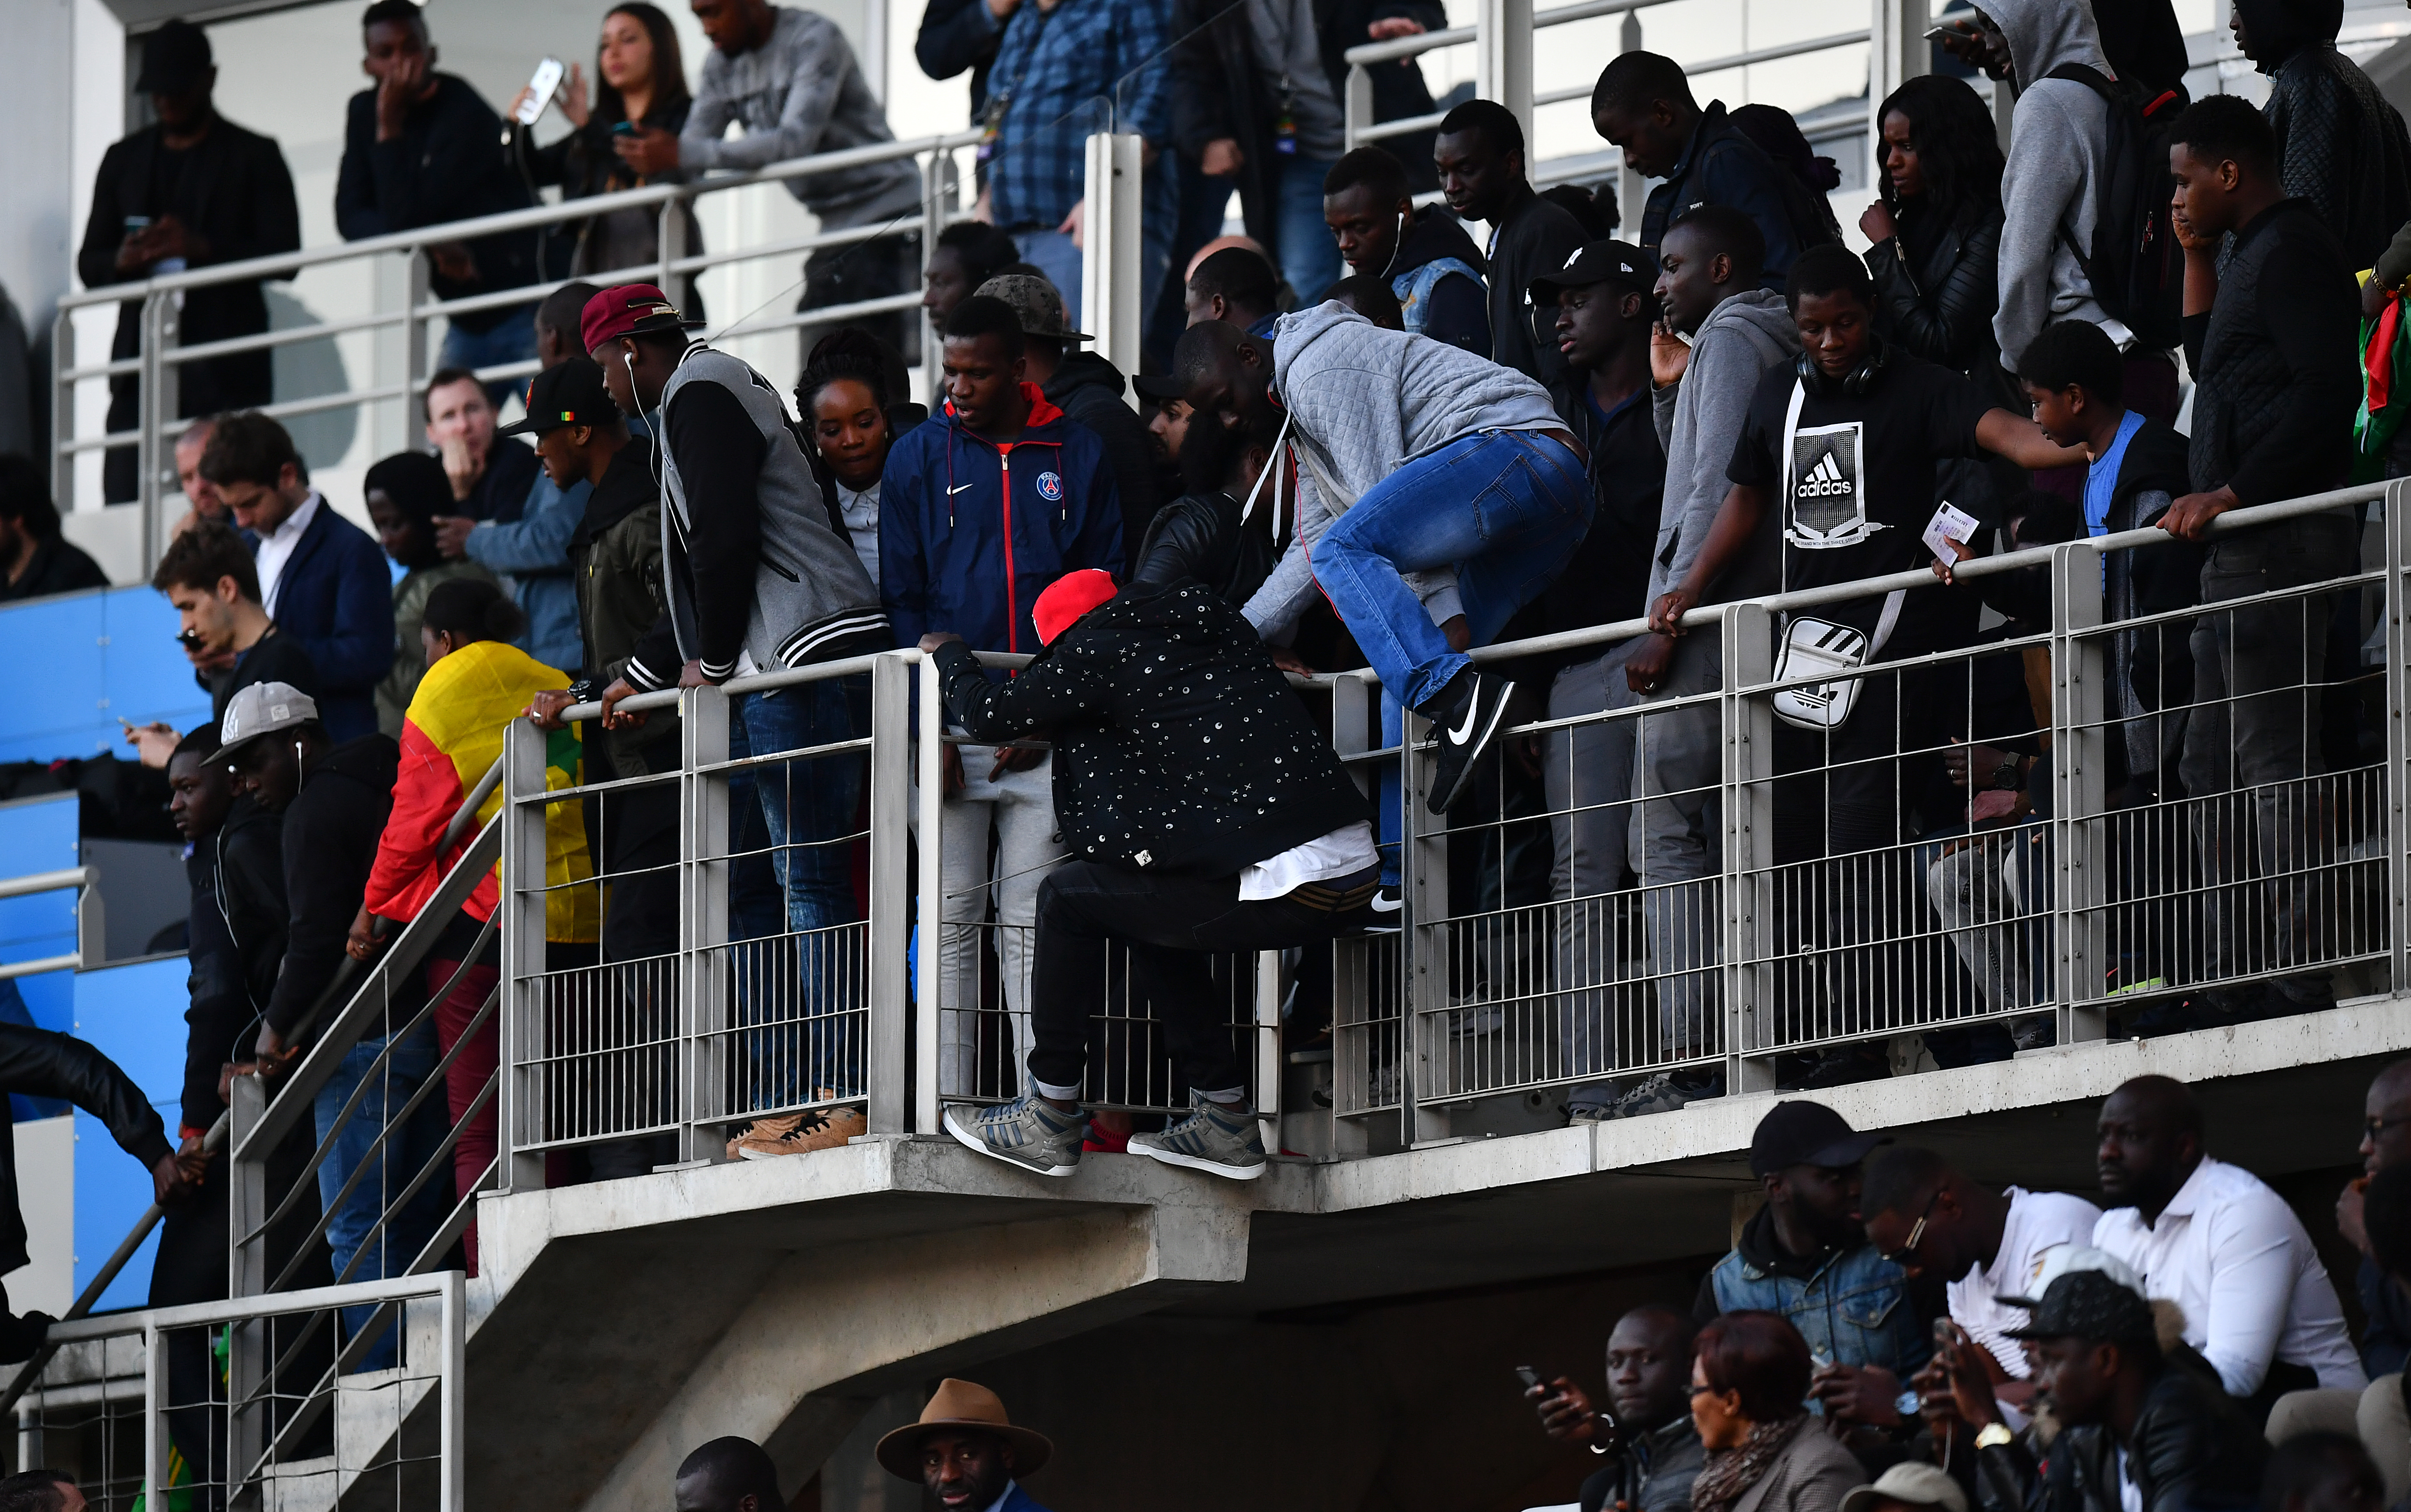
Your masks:
{"label": "long grey metal balcony railing the two men are climbing over", "polygon": [[[2221,535],[2298,531],[2286,521],[2365,509],[2382,492],[2240,511]],[[2387,511],[2389,531],[2399,516]],[[2375,755],[2380,738],[2397,738],[2401,661],[2389,649],[2384,673],[2375,658],[2356,666],[2363,632],[2394,634],[2411,552],[2389,533],[2382,562],[2356,559],[2315,584],[2218,610],[2105,617],[2105,562],[2163,550],[2163,533],[2136,531],[1984,557],[1960,569],[1958,588],[1902,574],[1695,610],[1690,646],[1714,651],[1721,678],[1555,716],[1543,680],[1476,798],[1447,820],[1422,813],[1420,733],[1384,743],[1369,673],[1304,680],[1331,699],[1333,748],[1367,791],[1401,774],[1408,924],[1403,936],[1338,940],[1328,969],[1307,953],[1215,967],[1256,1109],[1287,1119],[1292,1145],[1350,1155],[1553,1124],[1584,1090],[1623,1097],[1661,1073],[1762,1090],[1849,1047],[1910,1068],[1919,1054],[1955,1061],[2098,1039],[2112,1020],[2124,1032],[2223,1022],[2235,1010],[2221,998],[2257,991],[2315,1003],[2322,991],[2411,989],[2392,965],[2401,928],[2389,899],[2404,892],[2387,883],[2404,868],[2387,820],[2401,762]],[[2006,593],[2001,584],[2049,608],[1972,637],[1977,596]],[[1905,641],[1861,673],[1866,707],[1847,740],[1779,723],[1777,695],[1832,678],[1777,678],[1774,627],[1895,588],[1967,634]],[[2380,598],[2382,620],[2370,613]],[[2204,625],[2252,615],[2262,632],[2290,615],[2295,641],[2319,646],[2324,666],[2305,661],[2269,687],[2134,702],[2134,668],[2192,666]],[[1639,629],[1488,646],[1476,661],[1589,658]],[[2324,656],[2331,634],[2351,656]],[[943,1104],[1020,1090],[1029,907],[1056,851],[1005,837],[991,858],[986,820],[957,813],[979,805],[945,801],[945,752],[962,740],[943,733],[919,663],[890,651],[641,695],[622,709],[680,719],[677,769],[663,757],[634,776],[588,772],[581,789],[547,791],[540,733],[514,728],[501,846],[506,1189],[542,1184],[542,1155],[564,1148],[653,1141],[617,1165],[634,1174],[726,1160],[728,1138],[755,1119],[803,1117],[808,1131],[829,1119],[827,1143],[935,1133]],[[2380,685],[2384,719],[2372,714]],[[2182,748],[2170,733],[2180,721],[2247,716],[2283,743],[2269,709],[2293,697],[2300,748],[2317,733],[2303,728],[2312,695],[2336,711],[2324,736],[2336,755],[2283,779],[2259,772],[2213,789],[2204,769],[2189,793],[2180,786],[2165,755]],[[844,716],[810,740],[733,748],[747,723],[764,728],[735,711],[774,699],[832,699]],[[1644,743],[1688,743],[1690,767],[1644,762],[1635,786]],[[2163,757],[2143,767],[2129,748]],[[2025,805],[2001,791],[1970,815],[2004,752],[2040,767],[2020,789]],[[986,748],[967,755],[979,779]],[[1950,784],[1953,760],[1982,767],[1970,786]],[[2233,752],[2225,760],[2233,767]],[[786,815],[815,791],[837,798],[817,820],[788,817],[769,834],[764,786],[786,793]],[[624,907],[605,897],[600,965],[547,967],[540,950],[542,815],[559,805],[600,805],[605,825],[637,830],[675,813],[675,839],[653,830],[649,849],[610,834],[596,846],[596,878],[581,885],[629,890]],[[1803,830],[1815,810],[1840,817]],[[1844,834],[1844,820],[1859,830]],[[1673,858],[1637,875],[1570,861],[1577,834],[1591,854],[1623,856],[1635,827],[1664,832],[1673,844],[1642,849]],[[820,899],[810,912],[791,912],[781,868],[820,878],[805,887]],[[2271,912],[2317,926],[2252,933]],[[1114,962],[1109,981],[1087,1100],[1177,1112],[1186,1088],[1167,1071],[1145,994]]]}

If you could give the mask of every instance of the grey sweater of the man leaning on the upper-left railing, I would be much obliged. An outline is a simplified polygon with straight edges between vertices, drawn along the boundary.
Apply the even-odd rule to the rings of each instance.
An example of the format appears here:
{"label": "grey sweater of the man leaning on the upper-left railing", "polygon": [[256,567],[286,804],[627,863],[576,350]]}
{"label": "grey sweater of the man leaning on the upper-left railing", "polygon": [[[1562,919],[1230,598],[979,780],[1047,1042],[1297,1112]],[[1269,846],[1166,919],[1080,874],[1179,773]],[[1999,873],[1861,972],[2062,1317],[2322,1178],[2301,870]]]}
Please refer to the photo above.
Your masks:
{"label": "grey sweater of the man leaning on the upper-left railing", "polygon": [[[704,53],[704,82],[677,137],[682,169],[759,169],[894,140],[837,22],[810,10],[772,14],[779,19],[759,48],[735,58]],[[723,140],[731,121],[745,125],[733,142]],[[786,188],[822,229],[866,227],[921,205],[911,159],[788,178]]]}

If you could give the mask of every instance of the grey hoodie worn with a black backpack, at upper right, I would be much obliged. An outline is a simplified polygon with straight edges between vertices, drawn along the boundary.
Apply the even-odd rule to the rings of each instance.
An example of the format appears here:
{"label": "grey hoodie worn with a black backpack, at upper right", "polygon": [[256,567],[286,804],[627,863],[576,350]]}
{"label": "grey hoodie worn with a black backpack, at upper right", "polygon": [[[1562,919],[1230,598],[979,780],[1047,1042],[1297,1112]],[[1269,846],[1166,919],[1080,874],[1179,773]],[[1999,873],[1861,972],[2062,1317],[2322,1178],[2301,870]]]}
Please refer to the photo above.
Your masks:
{"label": "grey hoodie worn with a black backpack, at upper right", "polygon": [[2001,309],[1991,335],[2001,367],[2016,371],[2025,345],[2052,321],[2093,321],[2122,347],[2131,333],[2093,299],[2076,246],[2093,248],[2095,183],[2110,145],[2110,106],[2076,80],[2047,80],[2066,63],[2083,63],[2114,80],[2093,7],[2071,0],[1975,0],[2008,41],[2018,111],[2011,118],[2008,171],[2001,176]]}

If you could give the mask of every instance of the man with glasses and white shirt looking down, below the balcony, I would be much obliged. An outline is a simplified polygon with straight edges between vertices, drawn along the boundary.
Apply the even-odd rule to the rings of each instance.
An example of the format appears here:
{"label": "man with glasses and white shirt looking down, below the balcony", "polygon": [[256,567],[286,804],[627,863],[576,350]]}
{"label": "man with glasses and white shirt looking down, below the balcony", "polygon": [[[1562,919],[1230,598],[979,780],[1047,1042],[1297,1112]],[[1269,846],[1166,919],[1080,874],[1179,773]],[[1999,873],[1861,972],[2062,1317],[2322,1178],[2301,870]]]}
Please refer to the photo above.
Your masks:
{"label": "man with glasses and white shirt looking down, below the balcony", "polygon": [[[1948,1283],[1950,1321],[1984,1346],[1999,1396],[2023,1408],[2030,1387],[2013,1382],[2028,1382],[2032,1370],[2011,1329],[2025,1326],[2025,1309],[2008,1297],[2032,1295],[2047,1252],[2090,1247],[2100,1208],[2066,1191],[1994,1191],[1934,1150],[1897,1148],[1866,1162],[1859,1213],[1866,1242],[1912,1280]],[[1876,1420],[1890,1425],[1893,1406],[1885,1401]]]}

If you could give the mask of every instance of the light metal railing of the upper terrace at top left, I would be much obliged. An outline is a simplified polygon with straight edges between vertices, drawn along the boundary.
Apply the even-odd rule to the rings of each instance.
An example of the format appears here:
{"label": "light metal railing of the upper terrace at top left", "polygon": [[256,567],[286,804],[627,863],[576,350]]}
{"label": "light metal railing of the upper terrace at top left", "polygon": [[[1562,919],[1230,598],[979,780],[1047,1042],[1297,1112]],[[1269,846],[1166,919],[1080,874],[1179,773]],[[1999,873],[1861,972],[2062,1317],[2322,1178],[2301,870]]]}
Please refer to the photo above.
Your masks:
{"label": "light metal railing of the upper terrace at top left", "polygon": [[[675,294],[677,280],[694,277],[711,268],[731,268],[740,263],[757,263],[764,258],[793,258],[798,253],[813,253],[834,246],[853,246],[887,234],[919,234],[921,258],[926,263],[928,248],[935,246],[938,232],[943,232],[948,224],[967,215],[962,205],[962,183],[969,181],[969,174],[962,171],[962,164],[957,164],[957,152],[972,147],[976,140],[979,140],[976,130],[960,130],[933,137],[916,137],[909,142],[849,147],[844,152],[822,152],[817,157],[800,157],[793,162],[769,164],[745,174],[714,174],[706,178],[694,178],[690,183],[656,183],[644,188],[615,191],[605,195],[571,198],[557,205],[535,205],[530,210],[482,215],[475,219],[417,227],[412,232],[364,236],[359,241],[345,241],[338,246],[313,246],[268,258],[246,258],[239,263],[217,263],[210,268],[190,268],[183,272],[162,272],[147,280],[108,285],[101,289],[84,289],[82,294],[68,294],[65,299],[58,301],[58,318],[53,328],[53,357],[51,357],[53,362],[51,412],[55,427],[51,436],[53,497],[60,499],[63,509],[72,506],[77,456],[113,446],[133,446],[137,453],[137,477],[140,477],[137,504],[142,509],[142,564],[147,569],[149,562],[157,559],[164,545],[162,531],[166,521],[162,518],[159,509],[162,499],[176,487],[171,446],[174,439],[188,424],[188,420],[178,415],[178,403],[176,403],[176,374],[181,367],[239,352],[270,352],[294,342],[325,340],[335,335],[398,333],[400,371],[395,379],[366,386],[350,386],[342,393],[270,403],[263,405],[260,412],[282,420],[282,417],[318,415],[330,410],[362,410],[366,405],[381,405],[395,400],[403,403],[405,408],[415,405],[427,386],[429,350],[432,350],[429,338],[434,335],[436,323],[448,321],[451,316],[533,304],[545,294],[559,289],[564,282],[569,282],[569,280],[538,280],[516,289],[497,289],[458,299],[436,299],[429,285],[432,246],[446,241],[494,236],[504,232],[540,232],[545,227],[583,222],[620,210],[651,210],[656,215],[656,227],[658,227],[656,260],[634,268],[586,272],[579,277],[598,285],[646,280],[646,282],[658,282],[663,289],[670,289]],[[834,169],[856,169],[866,164],[897,162],[897,159],[914,159],[919,164],[923,193],[916,215],[904,215],[875,227],[815,229],[805,236],[788,236],[781,241],[767,241],[757,246],[731,246],[721,251],[690,251],[685,244],[692,205],[704,195],[723,195],[740,188],[788,183],[796,178],[810,178],[815,174],[827,174]],[[403,297],[398,309],[374,309],[369,313],[318,318],[306,326],[292,326],[282,330],[265,330],[258,335],[241,335],[212,342],[195,342],[195,345],[178,342],[176,321],[183,306],[183,297],[190,289],[231,285],[231,282],[287,280],[304,270],[335,268],[345,263],[366,265],[381,258],[403,260],[403,280],[400,280]],[[77,354],[75,313],[82,309],[99,309],[108,304],[140,306],[137,352],[133,357],[84,362]],[[863,299],[853,304],[829,304],[798,311],[779,309],[776,313],[762,313],[757,309],[718,326],[716,340],[796,330],[803,326],[844,323],[863,316],[909,311],[919,306],[921,306],[921,292],[919,287],[914,287],[909,292],[880,299]],[[923,321],[923,340],[928,340],[926,321]],[[477,376],[487,381],[499,381],[499,379],[518,379],[530,371],[535,371],[535,362],[514,362],[499,367],[480,367]],[[82,383],[106,383],[121,376],[137,379],[140,408],[135,429],[84,434],[77,422],[77,405],[75,405],[77,388]]]}

